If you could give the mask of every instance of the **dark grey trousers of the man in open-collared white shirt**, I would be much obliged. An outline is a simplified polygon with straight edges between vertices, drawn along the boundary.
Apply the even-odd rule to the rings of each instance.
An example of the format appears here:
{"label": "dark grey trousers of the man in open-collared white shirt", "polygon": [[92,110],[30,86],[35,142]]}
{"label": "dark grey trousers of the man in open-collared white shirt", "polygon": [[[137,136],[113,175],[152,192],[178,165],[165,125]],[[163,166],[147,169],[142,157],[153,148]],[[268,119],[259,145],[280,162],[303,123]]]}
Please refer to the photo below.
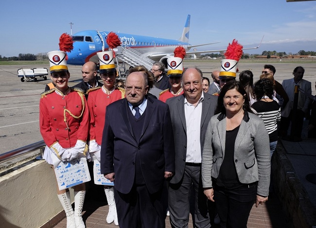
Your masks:
{"label": "dark grey trousers of the man in open-collared white shirt", "polygon": [[169,183],[168,204],[170,224],[173,228],[187,228],[190,214],[190,190],[193,185],[194,224],[196,228],[210,228],[207,198],[203,193],[200,166],[185,166],[182,180],[177,184]]}

